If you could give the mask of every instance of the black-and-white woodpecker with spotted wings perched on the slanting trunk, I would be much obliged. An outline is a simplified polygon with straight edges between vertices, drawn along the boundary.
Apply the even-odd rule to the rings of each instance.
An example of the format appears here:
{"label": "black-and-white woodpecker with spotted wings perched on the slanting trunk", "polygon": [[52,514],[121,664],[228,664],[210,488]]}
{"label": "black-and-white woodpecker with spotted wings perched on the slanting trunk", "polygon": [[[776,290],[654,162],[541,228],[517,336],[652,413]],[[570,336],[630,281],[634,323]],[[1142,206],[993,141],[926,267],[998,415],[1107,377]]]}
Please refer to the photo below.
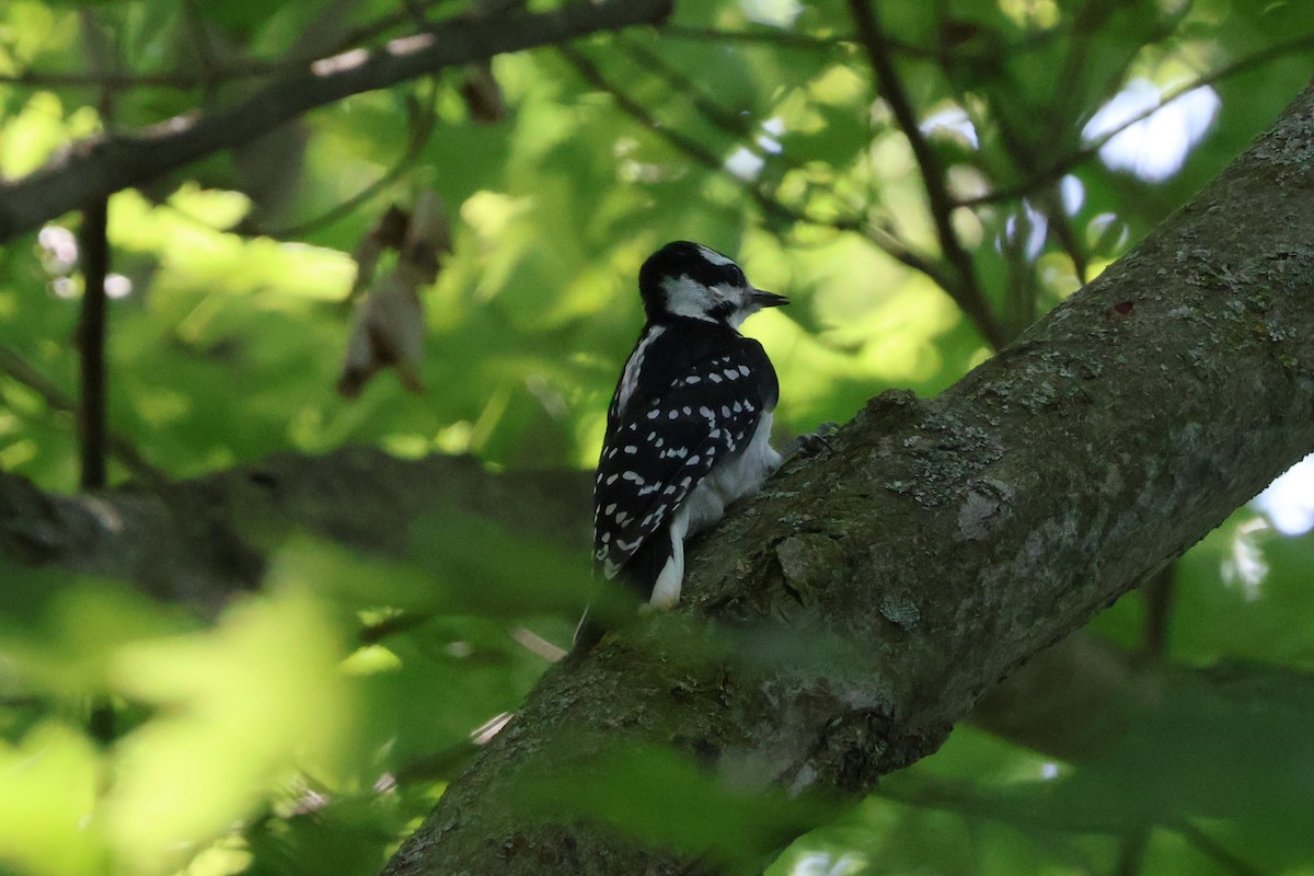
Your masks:
{"label": "black-and-white woodpecker with spotted wings perched on the slanting trunk", "polygon": [[[779,382],[744,320],[788,298],[756,289],[735,261],[677,240],[639,271],[646,320],[616,381],[593,491],[594,563],[657,608],[679,600],[685,540],[754,493],[771,448]],[[602,634],[589,613],[577,647]]]}

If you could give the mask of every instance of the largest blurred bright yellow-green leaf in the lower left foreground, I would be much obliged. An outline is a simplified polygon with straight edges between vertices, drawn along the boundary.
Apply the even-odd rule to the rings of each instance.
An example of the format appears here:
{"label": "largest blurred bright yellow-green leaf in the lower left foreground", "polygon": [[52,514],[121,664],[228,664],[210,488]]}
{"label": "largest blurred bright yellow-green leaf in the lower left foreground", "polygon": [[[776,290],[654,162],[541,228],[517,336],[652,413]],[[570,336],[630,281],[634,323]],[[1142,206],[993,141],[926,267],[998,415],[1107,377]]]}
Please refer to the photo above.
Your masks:
{"label": "largest blurred bright yellow-green leaf in the lower left foreground", "polygon": [[125,647],[114,687],[160,711],[120,743],[105,801],[118,856],[168,872],[297,770],[332,770],[352,734],[342,655],[330,619],[293,587],[235,605],[213,633]]}

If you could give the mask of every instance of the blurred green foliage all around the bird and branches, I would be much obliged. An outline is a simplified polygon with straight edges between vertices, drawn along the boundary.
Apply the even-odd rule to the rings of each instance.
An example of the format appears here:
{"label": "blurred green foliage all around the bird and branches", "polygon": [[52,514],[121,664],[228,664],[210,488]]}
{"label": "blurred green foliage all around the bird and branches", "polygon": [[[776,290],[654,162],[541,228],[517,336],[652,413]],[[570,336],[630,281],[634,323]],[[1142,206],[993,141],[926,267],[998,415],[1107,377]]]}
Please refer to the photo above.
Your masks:
{"label": "blurred green foliage all around the bird and branches", "polygon": [[[11,0],[0,175],[102,126],[223,106],[298,59],[409,33],[405,5]],[[879,7],[1004,335],[1215,175],[1314,62],[1303,0]],[[494,470],[589,468],[641,320],[633,277],[674,238],[736,253],[794,298],[748,326],[782,377],[782,433],[846,420],[891,386],[938,391],[991,351],[934,280],[891,257],[907,247],[941,264],[942,242],[853,33],[838,0],[679,3],[662,32],[494,59],[501,121],[481,122],[463,71],[444,71],[114,194],[126,294],[112,303],[112,428],[173,478],[352,443],[470,452]],[[106,70],[124,81],[102,88]],[[1164,93],[1208,80],[1218,101],[1155,184],[1083,139],[1134,80]],[[424,189],[455,236],[423,294],[428,390],[384,374],[343,401],[352,250]],[[78,393],[76,225],[0,250],[0,468],[51,491],[78,482],[62,401]],[[113,462],[116,479],[131,474]],[[424,548],[388,561],[275,546],[261,591],[214,619],[0,558],[0,873],[377,872],[480,726],[569,641],[578,603],[578,559],[553,545],[482,520],[415,525]],[[578,787],[537,792],[749,871],[825,822],[773,876],[1311,873],[1311,567],[1310,537],[1248,510],[1192,550],[1162,657],[1223,665],[1259,693],[1219,713],[1217,686],[1184,682],[1099,762],[964,728],[842,816],[738,799],[661,751],[616,753]],[[1146,616],[1134,594],[1092,632],[1135,651]]]}

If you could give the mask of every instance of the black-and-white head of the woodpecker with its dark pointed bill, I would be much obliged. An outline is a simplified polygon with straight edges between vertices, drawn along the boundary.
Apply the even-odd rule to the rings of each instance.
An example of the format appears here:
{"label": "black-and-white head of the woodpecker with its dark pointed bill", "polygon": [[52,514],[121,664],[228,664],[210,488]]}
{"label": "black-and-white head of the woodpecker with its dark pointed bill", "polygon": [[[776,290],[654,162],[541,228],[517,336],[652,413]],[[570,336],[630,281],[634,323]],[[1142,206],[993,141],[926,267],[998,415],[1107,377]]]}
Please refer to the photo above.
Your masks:
{"label": "black-and-white head of the woodpecker with its dark pointed bill", "polygon": [[732,259],[689,240],[668,243],[648,256],[639,269],[639,294],[648,322],[691,317],[732,328],[762,307],[790,303],[784,296],[754,289]]}

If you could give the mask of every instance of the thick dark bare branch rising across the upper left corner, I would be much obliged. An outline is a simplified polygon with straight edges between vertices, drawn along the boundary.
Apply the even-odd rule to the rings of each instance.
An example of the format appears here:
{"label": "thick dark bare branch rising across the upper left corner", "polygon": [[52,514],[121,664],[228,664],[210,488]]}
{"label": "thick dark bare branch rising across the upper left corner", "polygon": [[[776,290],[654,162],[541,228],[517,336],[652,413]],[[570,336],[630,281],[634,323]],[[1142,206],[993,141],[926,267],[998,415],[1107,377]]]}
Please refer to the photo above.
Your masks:
{"label": "thick dark bare branch rising across the upper left corner", "polygon": [[0,242],[210,152],[247,143],[351,95],[507,51],[658,22],[670,8],[671,0],[602,0],[536,14],[452,18],[430,33],[393,41],[384,50],[355,49],[315,62],[222,112],[180,116],[142,135],[84,141],[43,169],[0,185]]}

